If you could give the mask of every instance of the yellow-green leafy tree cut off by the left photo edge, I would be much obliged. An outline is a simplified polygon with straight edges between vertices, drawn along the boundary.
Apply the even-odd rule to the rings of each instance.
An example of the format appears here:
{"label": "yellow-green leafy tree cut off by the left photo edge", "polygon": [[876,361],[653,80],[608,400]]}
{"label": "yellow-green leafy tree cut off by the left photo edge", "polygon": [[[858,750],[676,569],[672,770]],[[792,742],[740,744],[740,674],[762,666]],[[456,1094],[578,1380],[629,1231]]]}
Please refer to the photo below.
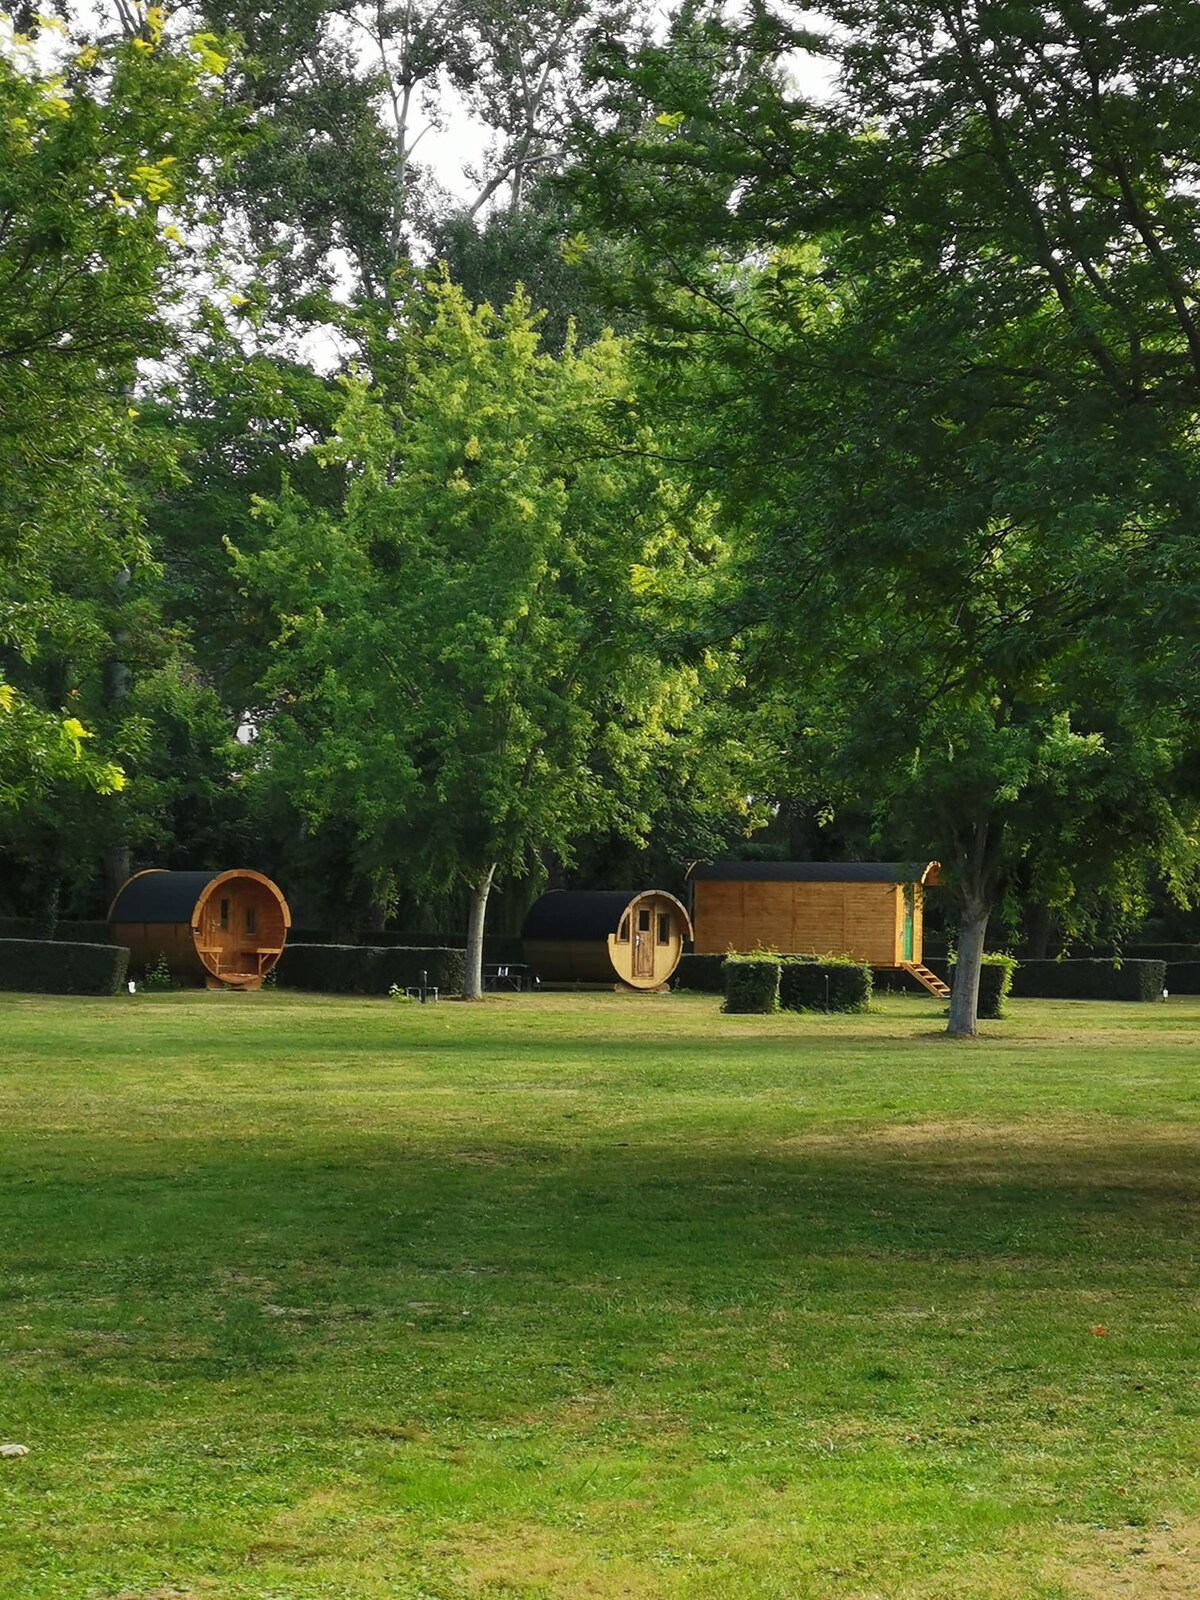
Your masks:
{"label": "yellow-green leafy tree cut off by the left photo edge", "polygon": [[224,149],[211,45],[142,22],[110,46],[0,42],[0,786],[22,805],[120,787],[80,710],[114,682],[142,486],[168,466],[136,363],[171,341],[179,229]]}

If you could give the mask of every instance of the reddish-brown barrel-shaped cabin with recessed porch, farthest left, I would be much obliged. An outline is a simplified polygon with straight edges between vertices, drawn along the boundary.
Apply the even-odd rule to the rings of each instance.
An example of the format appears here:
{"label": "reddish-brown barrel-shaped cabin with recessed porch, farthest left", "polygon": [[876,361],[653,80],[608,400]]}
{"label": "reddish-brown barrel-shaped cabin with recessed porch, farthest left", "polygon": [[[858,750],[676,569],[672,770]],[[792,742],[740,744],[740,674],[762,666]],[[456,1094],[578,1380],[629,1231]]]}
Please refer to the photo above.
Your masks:
{"label": "reddish-brown barrel-shaped cabin with recessed porch, farthest left", "polygon": [[210,989],[259,989],[291,926],[283,894],[261,872],[136,872],[109,907],[130,970],[160,957],[176,978]]}

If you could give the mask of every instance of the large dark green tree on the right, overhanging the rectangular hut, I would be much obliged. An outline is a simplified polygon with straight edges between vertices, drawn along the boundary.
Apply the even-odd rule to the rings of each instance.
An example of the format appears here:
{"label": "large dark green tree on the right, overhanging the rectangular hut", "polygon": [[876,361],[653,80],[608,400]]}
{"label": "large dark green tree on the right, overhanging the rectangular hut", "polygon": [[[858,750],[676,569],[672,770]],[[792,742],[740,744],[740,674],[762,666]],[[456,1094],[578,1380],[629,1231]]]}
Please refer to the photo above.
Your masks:
{"label": "large dark green tree on the right, overhanging the rectangular hut", "polygon": [[742,530],[779,776],[947,861],[973,1034],[1018,866],[1064,910],[1195,880],[1197,40],[1136,0],[824,10],[814,106],[811,35],[688,8],[576,192]]}

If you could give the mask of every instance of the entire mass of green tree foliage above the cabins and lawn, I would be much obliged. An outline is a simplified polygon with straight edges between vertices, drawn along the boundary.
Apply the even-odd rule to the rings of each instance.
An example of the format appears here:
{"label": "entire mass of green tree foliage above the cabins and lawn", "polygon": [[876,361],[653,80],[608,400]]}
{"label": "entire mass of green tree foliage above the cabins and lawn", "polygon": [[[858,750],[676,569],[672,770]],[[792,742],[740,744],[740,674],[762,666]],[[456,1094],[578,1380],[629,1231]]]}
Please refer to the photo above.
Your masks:
{"label": "entire mass of green tree foliage above the cabins and lawn", "polygon": [[966,1034],[1018,901],[1189,899],[1189,18],[198,16],[0,50],[10,859],[258,826],[478,955],[498,875],[773,805],[942,859]]}

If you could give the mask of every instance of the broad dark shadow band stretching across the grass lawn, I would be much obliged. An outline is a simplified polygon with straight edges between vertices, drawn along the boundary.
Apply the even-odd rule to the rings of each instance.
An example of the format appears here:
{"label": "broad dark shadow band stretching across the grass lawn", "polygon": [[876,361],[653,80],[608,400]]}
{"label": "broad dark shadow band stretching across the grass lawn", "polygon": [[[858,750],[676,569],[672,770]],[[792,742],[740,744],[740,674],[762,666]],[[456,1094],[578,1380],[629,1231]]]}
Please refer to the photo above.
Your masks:
{"label": "broad dark shadow band stretching across the grass lawn", "polygon": [[150,1322],[146,1302],[174,1302],[184,1325],[219,1317],[237,1365],[290,1362],[314,1309],[426,1325],[451,1290],[467,1314],[552,1318],[555,1301],[597,1294],[678,1307],[904,1299],[936,1282],[1178,1286],[1192,1261],[1200,1173],[1182,1139],[814,1144],[373,1136],[170,1166],[125,1147],[106,1171],[101,1147],[72,1141],[69,1166],[0,1186],[0,1299],[67,1320],[136,1301]]}

